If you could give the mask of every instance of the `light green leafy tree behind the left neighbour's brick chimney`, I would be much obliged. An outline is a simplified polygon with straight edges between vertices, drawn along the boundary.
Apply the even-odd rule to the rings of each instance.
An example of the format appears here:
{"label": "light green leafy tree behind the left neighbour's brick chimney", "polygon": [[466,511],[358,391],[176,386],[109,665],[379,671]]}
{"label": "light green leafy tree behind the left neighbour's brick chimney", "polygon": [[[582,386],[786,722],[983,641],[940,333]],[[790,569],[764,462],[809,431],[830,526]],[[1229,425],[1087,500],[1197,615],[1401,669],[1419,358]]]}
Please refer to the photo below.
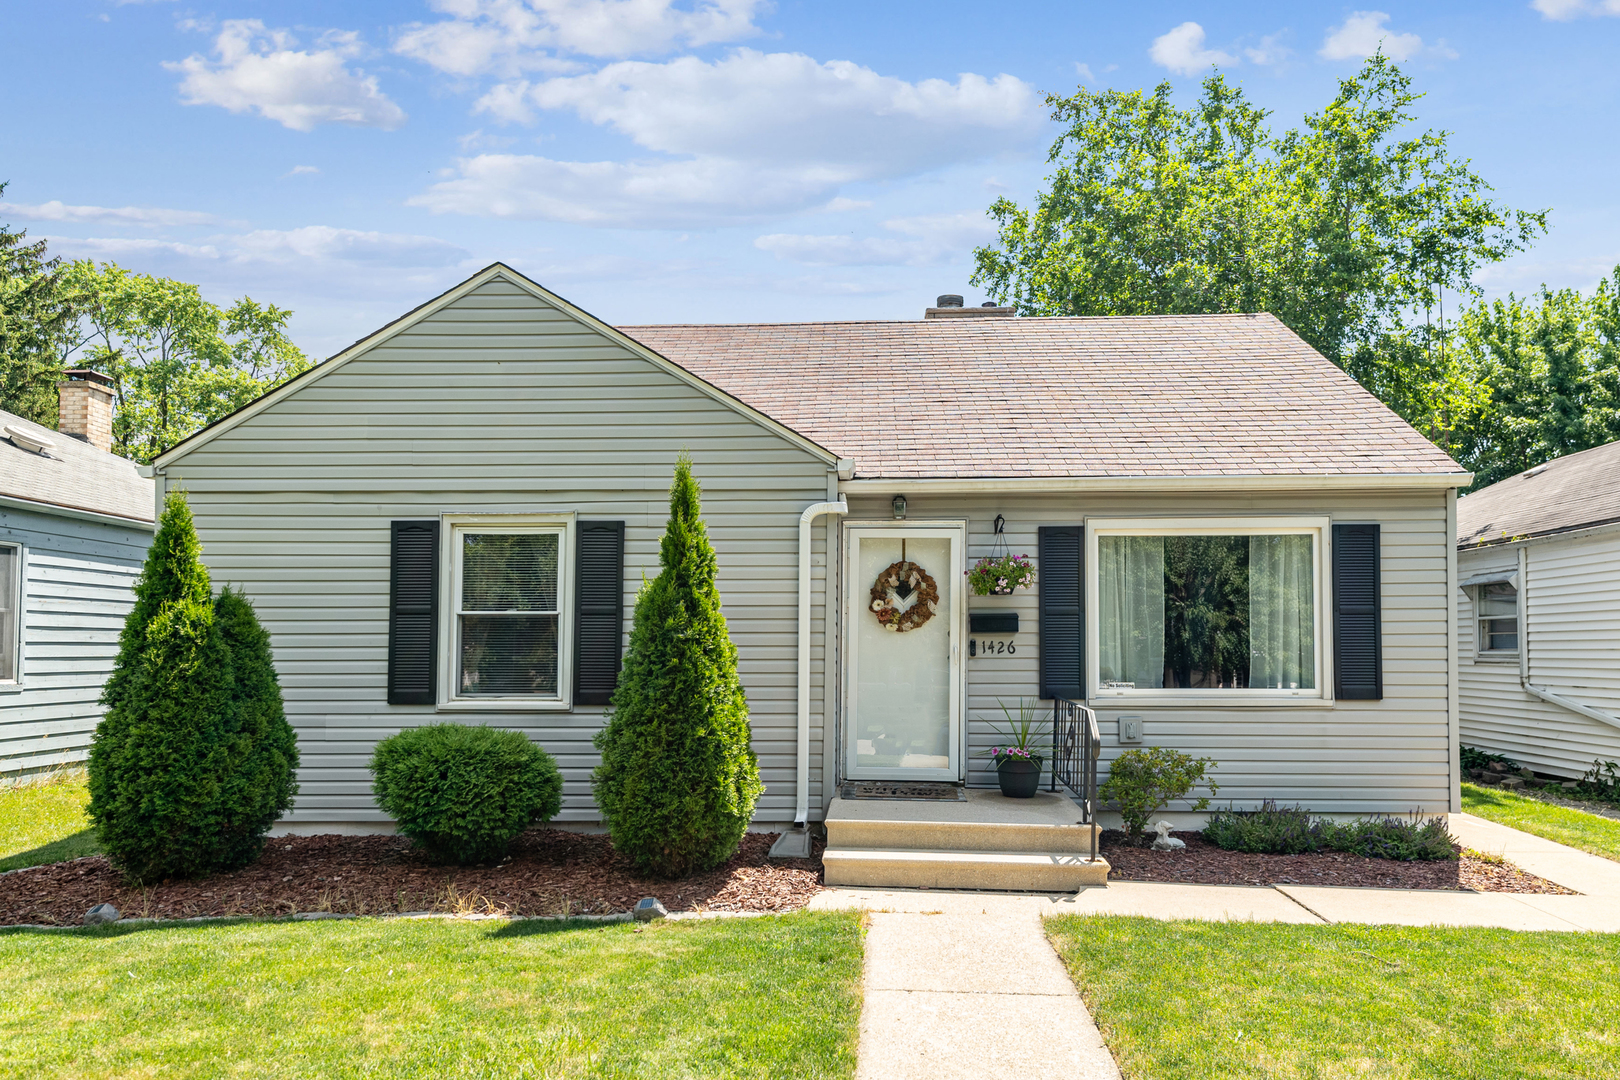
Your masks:
{"label": "light green leafy tree behind the left neighbour's brick chimney", "polygon": [[60,363],[113,381],[113,452],[151,461],[193,431],[309,368],[287,335],[292,313],[243,296],[222,309],[196,285],[81,259],[66,267],[83,298]]}

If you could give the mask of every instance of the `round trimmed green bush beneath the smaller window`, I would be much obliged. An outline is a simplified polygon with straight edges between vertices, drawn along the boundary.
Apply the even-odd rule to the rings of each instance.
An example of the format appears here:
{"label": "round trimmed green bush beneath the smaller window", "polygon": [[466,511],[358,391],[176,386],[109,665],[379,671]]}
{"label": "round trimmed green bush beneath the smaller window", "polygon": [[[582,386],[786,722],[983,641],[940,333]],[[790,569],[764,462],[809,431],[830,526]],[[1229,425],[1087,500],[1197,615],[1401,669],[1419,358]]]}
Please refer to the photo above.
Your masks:
{"label": "round trimmed green bush beneath the smaller window", "polygon": [[488,863],[535,821],[562,810],[562,774],[522,732],[413,727],[377,743],[373,793],[428,857]]}

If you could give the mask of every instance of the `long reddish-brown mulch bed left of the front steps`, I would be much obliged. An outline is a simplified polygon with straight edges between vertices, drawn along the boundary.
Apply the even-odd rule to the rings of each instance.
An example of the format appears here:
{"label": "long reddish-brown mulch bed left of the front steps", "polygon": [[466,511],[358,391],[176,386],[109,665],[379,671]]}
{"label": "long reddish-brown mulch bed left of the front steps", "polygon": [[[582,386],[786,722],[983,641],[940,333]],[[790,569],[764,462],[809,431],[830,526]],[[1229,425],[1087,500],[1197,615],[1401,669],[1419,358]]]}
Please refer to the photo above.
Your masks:
{"label": "long reddish-brown mulch bed left of the front steps", "polygon": [[112,904],[130,916],[454,912],[608,915],[658,897],[671,912],[787,912],[821,889],[813,858],[768,860],[776,834],[750,832],[724,866],[677,881],[645,879],[601,834],[531,829],[497,866],[434,866],[397,836],[275,837],[259,861],[198,881],[126,884],[107,858],[0,874],[0,925],[79,925]]}

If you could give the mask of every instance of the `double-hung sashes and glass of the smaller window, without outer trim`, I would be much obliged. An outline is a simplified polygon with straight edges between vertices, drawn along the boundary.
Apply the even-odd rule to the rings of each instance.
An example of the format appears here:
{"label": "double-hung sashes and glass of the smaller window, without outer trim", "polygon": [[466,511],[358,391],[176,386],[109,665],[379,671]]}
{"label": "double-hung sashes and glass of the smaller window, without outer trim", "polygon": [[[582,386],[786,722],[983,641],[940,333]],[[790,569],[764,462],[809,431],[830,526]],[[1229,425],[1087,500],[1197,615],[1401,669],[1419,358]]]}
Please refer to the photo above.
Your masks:
{"label": "double-hung sashes and glass of the smaller window, without outer trim", "polygon": [[455,696],[561,698],[565,528],[458,526]]}

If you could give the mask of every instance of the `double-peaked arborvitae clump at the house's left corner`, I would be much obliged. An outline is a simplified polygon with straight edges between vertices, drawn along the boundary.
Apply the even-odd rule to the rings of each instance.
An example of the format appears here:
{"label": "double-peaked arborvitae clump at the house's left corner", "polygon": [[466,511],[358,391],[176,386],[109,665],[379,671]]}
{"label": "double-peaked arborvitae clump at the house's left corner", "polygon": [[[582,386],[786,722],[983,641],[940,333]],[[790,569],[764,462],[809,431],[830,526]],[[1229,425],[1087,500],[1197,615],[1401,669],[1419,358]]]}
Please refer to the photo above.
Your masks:
{"label": "double-peaked arborvitae clump at the house's left corner", "polygon": [[91,821],[136,881],[253,861],[295,792],[269,636],[235,593],[211,599],[201,552],[170,494],[91,743]]}

